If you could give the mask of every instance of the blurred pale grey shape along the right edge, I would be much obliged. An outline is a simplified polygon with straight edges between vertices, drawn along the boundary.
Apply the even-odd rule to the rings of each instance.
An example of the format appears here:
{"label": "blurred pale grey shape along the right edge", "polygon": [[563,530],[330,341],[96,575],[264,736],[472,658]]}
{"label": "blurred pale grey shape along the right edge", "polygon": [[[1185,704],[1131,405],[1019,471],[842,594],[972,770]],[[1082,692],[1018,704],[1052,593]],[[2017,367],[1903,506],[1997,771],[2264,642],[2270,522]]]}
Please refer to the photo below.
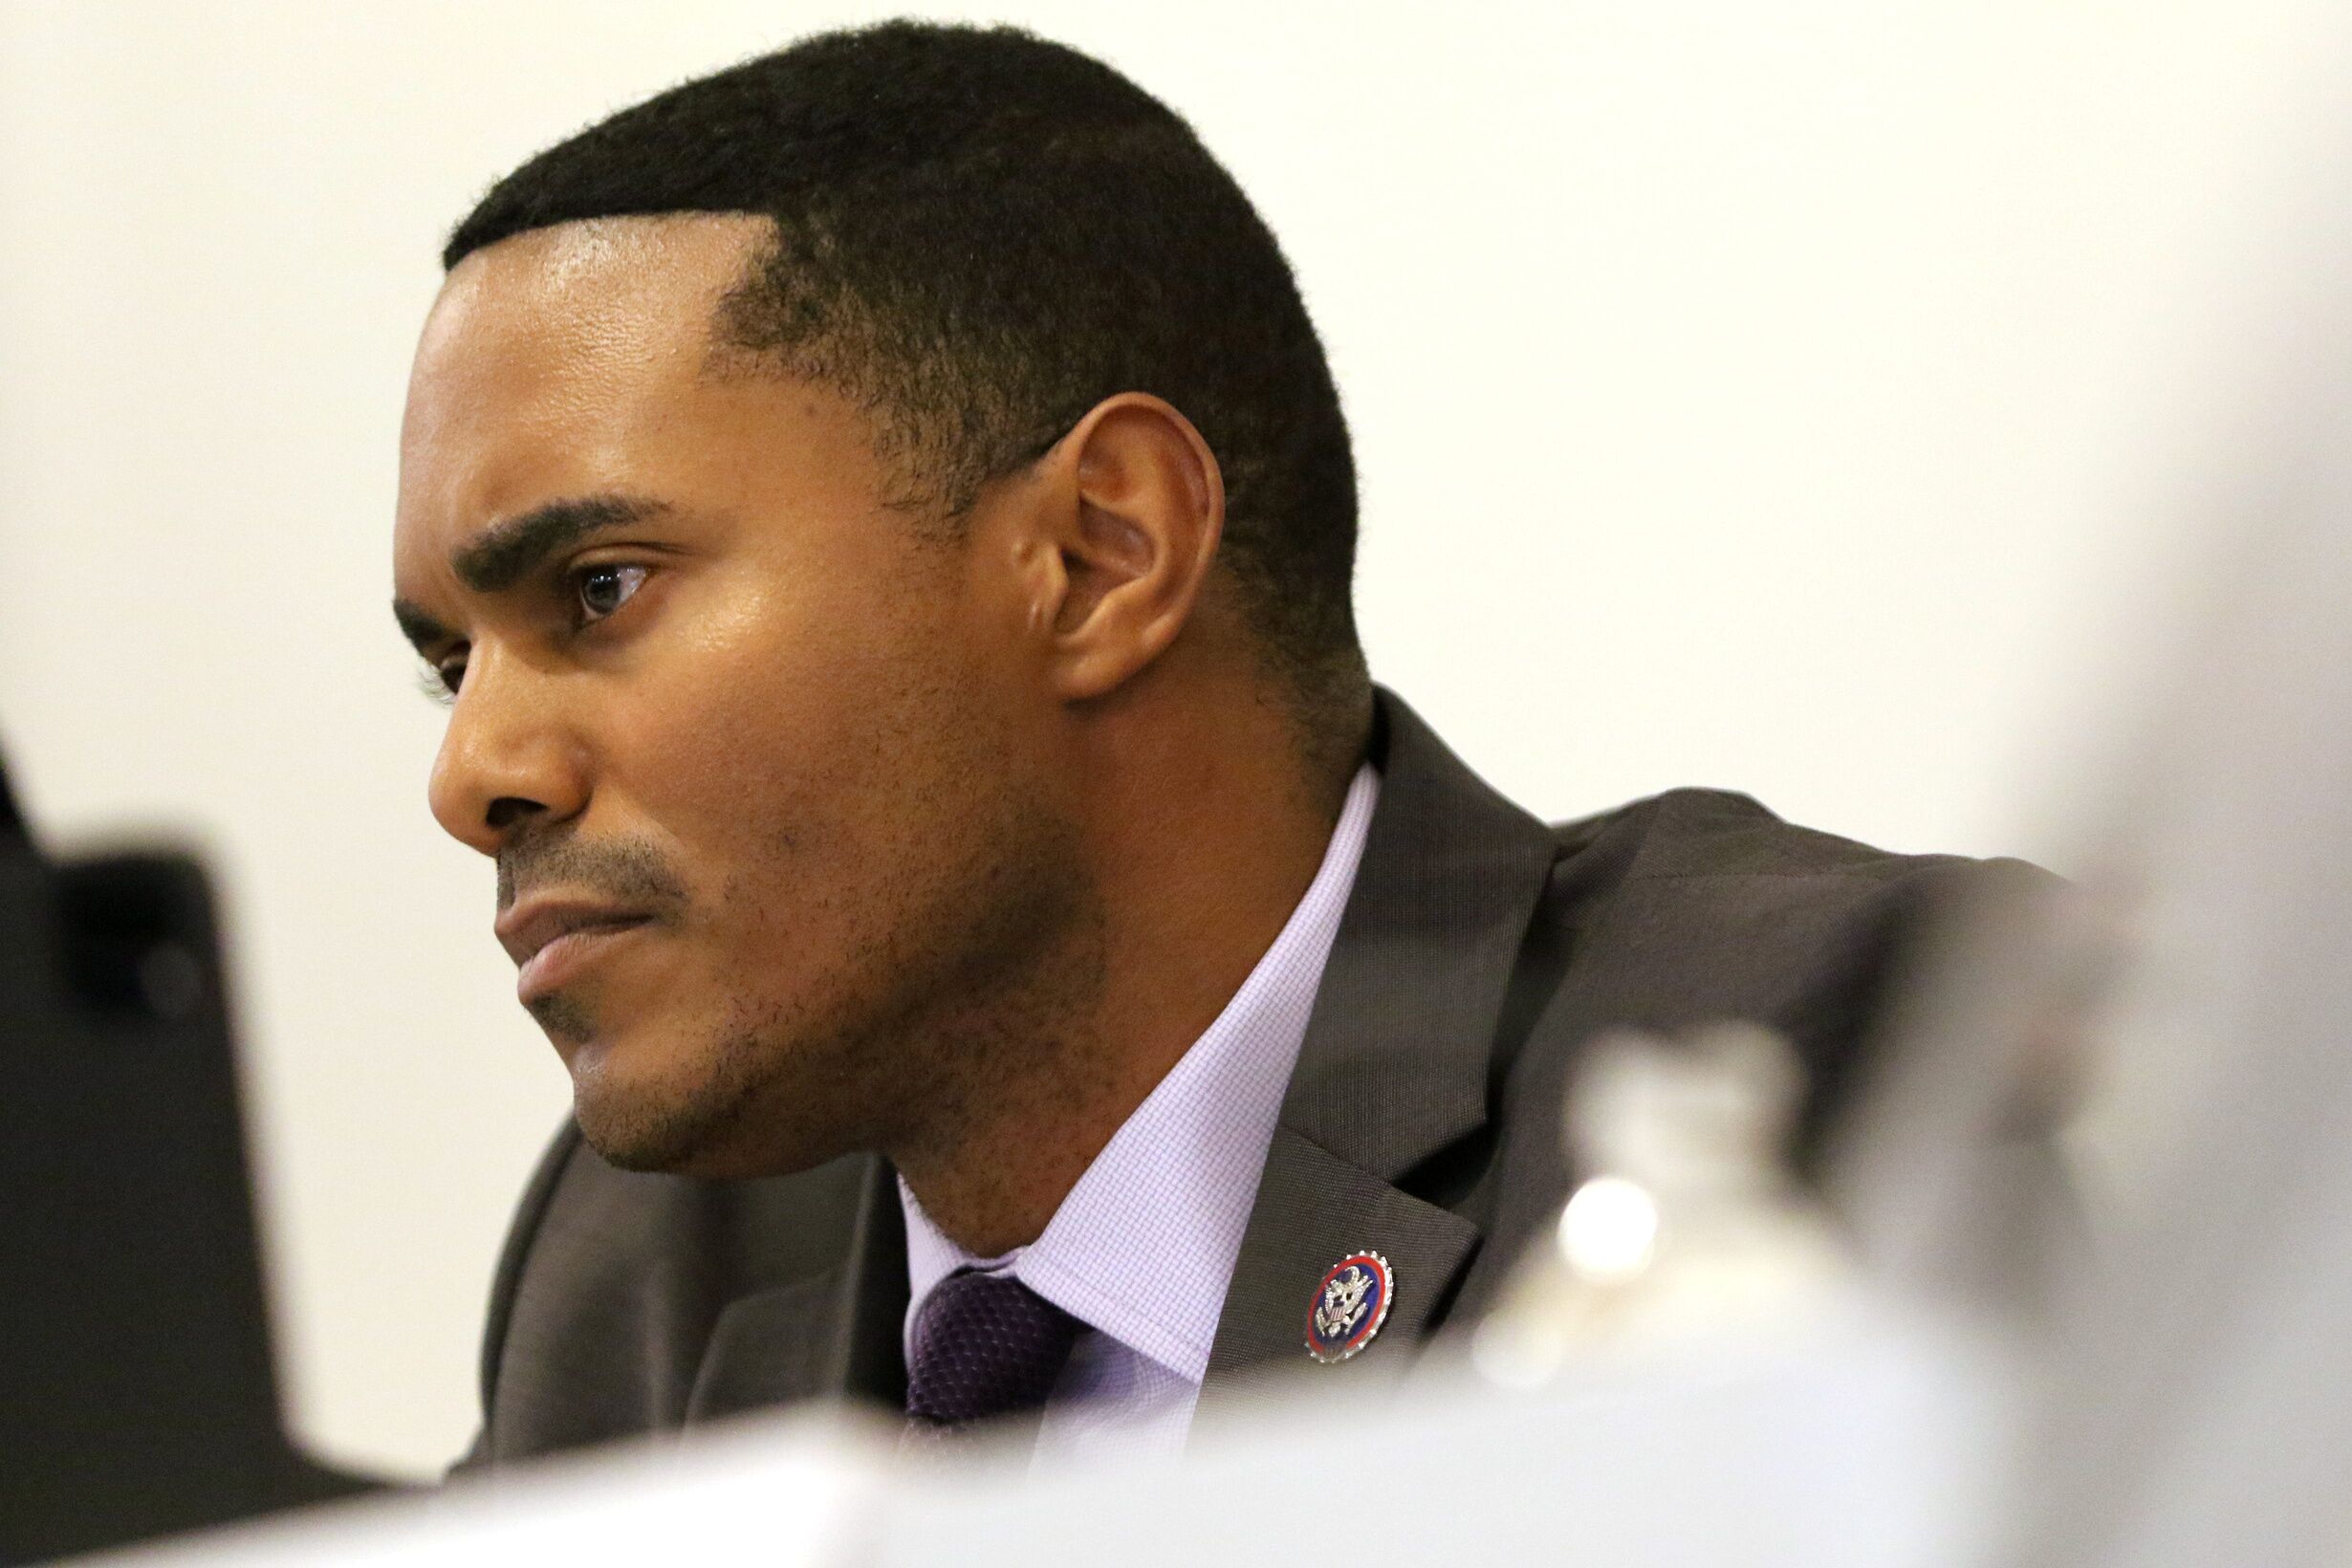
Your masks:
{"label": "blurred pale grey shape along the right edge", "polygon": [[2016,1561],[2352,1561],[2352,334],[2112,823],[2098,1265]]}

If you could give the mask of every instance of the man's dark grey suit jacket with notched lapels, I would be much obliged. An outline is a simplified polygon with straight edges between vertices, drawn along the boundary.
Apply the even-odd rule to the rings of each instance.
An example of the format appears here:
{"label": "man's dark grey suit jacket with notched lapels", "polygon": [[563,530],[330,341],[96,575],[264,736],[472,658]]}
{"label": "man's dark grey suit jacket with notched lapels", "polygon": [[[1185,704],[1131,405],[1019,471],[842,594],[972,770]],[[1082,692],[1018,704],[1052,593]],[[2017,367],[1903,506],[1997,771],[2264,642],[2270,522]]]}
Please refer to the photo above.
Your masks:
{"label": "man's dark grey suit jacket with notched lapels", "polygon": [[[1811,1147],[1922,922],[1966,884],[2039,877],[1891,856],[1712,790],[1545,827],[1385,691],[1374,757],[1378,811],[1265,1157],[1211,1387],[1305,1363],[1315,1284],[1359,1248],[1388,1255],[1395,1305],[1329,1375],[1395,1375],[1444,1324],[1475,1321],[1569,1192],[1562,1103],[1597,1032],[1722,1018],[1783,1030],[1811,1067]],[[750,1182],[633,1175],[567,1126],[499,1262],[485,1427],[463,1465],[797,1399],[896,1408],[906,1305],[882,1159]]]}

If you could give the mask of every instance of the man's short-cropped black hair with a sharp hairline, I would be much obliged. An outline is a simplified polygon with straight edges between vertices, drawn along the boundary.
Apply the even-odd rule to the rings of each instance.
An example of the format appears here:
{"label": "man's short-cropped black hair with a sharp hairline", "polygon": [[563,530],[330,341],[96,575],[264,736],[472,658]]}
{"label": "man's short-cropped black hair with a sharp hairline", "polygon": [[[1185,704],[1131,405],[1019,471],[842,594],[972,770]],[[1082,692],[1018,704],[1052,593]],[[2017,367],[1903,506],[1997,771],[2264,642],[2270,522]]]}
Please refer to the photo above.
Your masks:
{"label": "man's short-cropped black hair with a sharp hairline", "polygon": [[1223,470],[1221,559],[1275,672],[1310,729],[1362,712],[1331,369],[1282,247],[1171,108],[1016,28],[818,33],[539,153],[442,266],[532,228],[680,212],[774,219],[722,334],[854,395],[948,517],[1103,397],[1183,409]]}

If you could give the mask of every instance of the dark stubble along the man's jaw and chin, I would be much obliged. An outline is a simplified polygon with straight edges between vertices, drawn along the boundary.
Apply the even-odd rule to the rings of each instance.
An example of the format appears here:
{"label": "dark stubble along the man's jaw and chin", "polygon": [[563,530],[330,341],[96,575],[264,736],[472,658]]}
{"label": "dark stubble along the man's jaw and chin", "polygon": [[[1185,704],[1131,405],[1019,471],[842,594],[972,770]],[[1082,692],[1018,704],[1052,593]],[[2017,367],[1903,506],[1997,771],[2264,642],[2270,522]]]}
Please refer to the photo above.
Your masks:
{"label": "dark stubble along the man's jaw and chin", "polygon": [[[811,912],[847,914],[830,964],[786,994],[746,985],[706,1023],[677,1025],[661,1051],[684,1079],[623,1084],[609,1056],[579,1053],[590,1147],[628,1171],[774,1175],[851,1150],[948,1145],[1009,1103],[1075,1093],[1073,1077],[1098,1063],[1101,903],[1075,830],[1004,762],[941,769],[941,785],[903,802],[920,837],[891,872],[856,886],[856,910]],[[974,780],[995,785],[985,802]],[[739,877],[715,917],[760,924],[755,900],[774,893],[762,882]],[[550,1034],[595,1032],[590,1006],[543,1001]]]}

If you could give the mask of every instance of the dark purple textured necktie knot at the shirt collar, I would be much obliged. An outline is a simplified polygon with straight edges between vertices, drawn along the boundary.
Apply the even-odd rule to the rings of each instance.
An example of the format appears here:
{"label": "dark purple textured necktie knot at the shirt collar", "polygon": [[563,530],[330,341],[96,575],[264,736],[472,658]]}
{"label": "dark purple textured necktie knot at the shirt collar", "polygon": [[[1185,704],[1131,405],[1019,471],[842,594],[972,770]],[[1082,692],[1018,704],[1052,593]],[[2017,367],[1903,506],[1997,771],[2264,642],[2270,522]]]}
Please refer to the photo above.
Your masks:
{"label": "dark purple textured necktie knot at the shirt collar", "polygon": [[990,1415],[1035,1410],[1084,1328],[1011,1274],[948,1274],[915,1314],[906,1359],[906,1415],[924,1429],[960,1429]]}

